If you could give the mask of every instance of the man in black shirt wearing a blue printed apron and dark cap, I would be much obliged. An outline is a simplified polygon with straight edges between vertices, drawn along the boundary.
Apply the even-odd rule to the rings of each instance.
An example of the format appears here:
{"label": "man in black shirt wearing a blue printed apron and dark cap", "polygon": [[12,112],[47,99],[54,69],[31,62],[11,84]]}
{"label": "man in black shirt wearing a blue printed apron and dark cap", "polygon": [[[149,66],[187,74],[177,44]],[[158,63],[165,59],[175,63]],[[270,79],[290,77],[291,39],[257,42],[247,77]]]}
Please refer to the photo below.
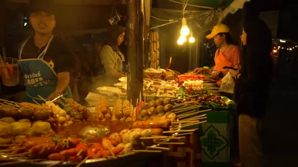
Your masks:
{"label": "man in black shirt wearing a blue printed apron and dark cap", "polygon": [[25,102],[43,103],[60,94],[72,98],[70,71],[74,68],[71,53],[52,33],[56,25],[50,0],[32,0],[29,21],[34,35],[20,48],[20,70],[26,86]]}

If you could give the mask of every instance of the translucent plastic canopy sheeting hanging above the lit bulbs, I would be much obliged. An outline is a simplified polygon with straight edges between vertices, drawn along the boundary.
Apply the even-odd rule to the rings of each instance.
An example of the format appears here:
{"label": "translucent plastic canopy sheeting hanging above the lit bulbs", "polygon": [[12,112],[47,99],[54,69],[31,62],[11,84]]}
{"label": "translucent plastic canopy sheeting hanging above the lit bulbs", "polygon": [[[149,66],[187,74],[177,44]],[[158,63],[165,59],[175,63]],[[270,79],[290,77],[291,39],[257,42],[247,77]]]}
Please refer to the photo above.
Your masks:
{"label": "translucent plastic canopy sheeting hanging above the lit bulbs", "polygon": [[[181,3],[176,0],[169,1]],[[187,19],[188,26],[205,32],[223,21],[229,13],[234,14],[238,9],[242,9],[246,1],[250,0],[188,0],[187,5],[198,7],[198,10],[186,10],[184,17]],[[173,23],[178,26],[181,24],[182,15],[181,10],[153,8],[150,27],[154,29]]]}

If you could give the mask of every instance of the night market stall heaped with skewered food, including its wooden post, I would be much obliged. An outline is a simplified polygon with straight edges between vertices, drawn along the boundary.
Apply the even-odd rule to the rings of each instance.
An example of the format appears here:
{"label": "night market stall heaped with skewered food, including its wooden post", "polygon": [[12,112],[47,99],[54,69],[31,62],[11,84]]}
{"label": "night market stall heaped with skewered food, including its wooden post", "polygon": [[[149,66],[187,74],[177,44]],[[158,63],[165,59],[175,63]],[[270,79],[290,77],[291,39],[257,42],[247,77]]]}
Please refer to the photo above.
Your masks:
{"label": "night market stall heaped with skewered food, including its wooden post", "polygon": [[[127,25],[143,24],[133,17],[140,14],[138,5],[144,4],[127,2]],[[149,9],[142,8],[148,17]],[[158,30],[147,30],[147,47],[144,42],[136,45],[145,34],[144,25],[138,28],[128,27],[127,77],[114,88],[98,87],[91,94],[95,98],[89,97],[93,106],[63,97],[43,104],[1,99],[0,165],[111,165],[140,153],[183,157],[187,166],[199,166],[201,158],[227,164],[229,114],[235,103],[219,95],[208,75],[171,70],[171,59],[166,69],[159,68],[163,55]],[[140,46],[148,50],[145,60],[138,56]],[[149,68],[143,71],[144,62]]]}

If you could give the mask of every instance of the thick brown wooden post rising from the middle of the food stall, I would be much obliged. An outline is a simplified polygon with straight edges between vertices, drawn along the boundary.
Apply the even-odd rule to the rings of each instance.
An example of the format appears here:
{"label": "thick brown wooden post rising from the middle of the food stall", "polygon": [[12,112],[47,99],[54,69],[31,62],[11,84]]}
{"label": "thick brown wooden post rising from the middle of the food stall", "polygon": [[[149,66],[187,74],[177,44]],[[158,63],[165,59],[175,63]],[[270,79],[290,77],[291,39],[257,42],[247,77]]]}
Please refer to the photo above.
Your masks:
{"label": "thick brown wooden post rising from the middle of the food stall", "polygon": [[[143,66],[144,66],[144,23],[139,15],[139,0],[127,0],[126,39],[127,39],[127,99],[136,105],[140,92],[143,95]],[[138,13],[139,12],[139,13]],[[142,96],[143,97],[143,96]],[[139,102],[141,100],[139,99]]]}

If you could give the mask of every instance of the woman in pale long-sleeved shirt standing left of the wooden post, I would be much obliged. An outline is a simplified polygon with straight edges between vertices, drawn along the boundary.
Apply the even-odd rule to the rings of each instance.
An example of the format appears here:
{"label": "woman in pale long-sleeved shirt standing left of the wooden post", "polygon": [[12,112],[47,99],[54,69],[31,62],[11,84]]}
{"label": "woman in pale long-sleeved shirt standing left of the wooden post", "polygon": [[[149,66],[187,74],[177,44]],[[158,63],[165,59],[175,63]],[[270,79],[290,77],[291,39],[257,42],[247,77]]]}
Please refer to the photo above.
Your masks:
{"label": "woman in pale long-sleeved shirt standing left of the wooden post", "polygon": [[119,78],[126,76],[124,55],[118,48],[124,41],[125,27],[113,25],[108,33],[109,39],[101,49],[100,60],[104,67],[106,85],[111,86],[117,83]]}

